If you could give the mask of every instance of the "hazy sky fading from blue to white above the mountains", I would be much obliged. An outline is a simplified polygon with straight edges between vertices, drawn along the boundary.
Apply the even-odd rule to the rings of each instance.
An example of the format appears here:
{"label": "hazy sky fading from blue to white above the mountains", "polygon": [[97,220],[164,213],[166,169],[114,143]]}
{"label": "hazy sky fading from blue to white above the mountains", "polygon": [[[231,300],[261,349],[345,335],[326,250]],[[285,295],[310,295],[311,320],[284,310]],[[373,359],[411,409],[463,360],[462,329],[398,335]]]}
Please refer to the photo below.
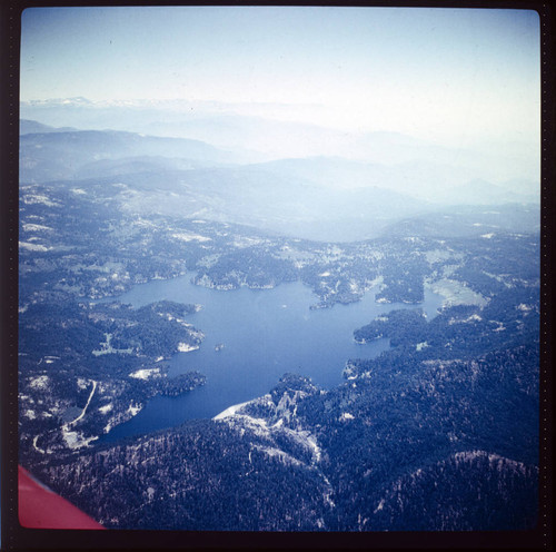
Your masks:
{"label": "hazy sky fading from blue to white above the mountains", "polygon": [[529,10],[32,8],[21,99],[278,102],[349,130],[530,142],[539,65]]}

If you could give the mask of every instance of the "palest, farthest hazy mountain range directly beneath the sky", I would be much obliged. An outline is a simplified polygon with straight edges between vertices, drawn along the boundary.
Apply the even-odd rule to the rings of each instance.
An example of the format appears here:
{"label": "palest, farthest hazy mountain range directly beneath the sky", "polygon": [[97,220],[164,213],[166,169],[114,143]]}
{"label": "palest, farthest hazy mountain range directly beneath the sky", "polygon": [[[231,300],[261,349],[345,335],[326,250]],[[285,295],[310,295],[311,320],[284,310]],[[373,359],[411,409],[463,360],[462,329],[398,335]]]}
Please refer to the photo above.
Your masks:
{"label": "palest, farthest hazy mountain range directly beneath the sky", "polygon": [[[299,109],[298,109],[299,110]],[[188,100],[23,101],[20,114],[56,127],[127,130],[205,141],[240,162],[337,157],[397,167],[407,184],[433,190],[473,179],[539,181],[539,146],[467,140],[447,145],[397,131],[345,130],[294,119],[292,106]],[[302,112],[301,112],[302,115]],[[426,190],[425,190],[426,191]]]}

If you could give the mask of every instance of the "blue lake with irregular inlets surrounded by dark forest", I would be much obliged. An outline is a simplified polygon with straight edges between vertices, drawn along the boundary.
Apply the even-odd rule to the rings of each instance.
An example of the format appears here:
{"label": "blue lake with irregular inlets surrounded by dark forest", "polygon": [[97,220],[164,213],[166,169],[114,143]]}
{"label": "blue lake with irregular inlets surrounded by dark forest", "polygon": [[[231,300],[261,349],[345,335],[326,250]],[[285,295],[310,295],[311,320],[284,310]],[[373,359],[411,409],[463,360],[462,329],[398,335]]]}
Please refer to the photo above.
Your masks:
{"label": "blue lake with irregular inlets surrounded by dark forest", "polygon": [[[152,280],[133,287],[118,300],[135,307],[168,299],[202,306],[187,322],[205,333],[198,351],[178,353],[170,359],[169,375],[198,369],[206,385],[177,397],[155,397],[132,420],[115,427],[100,441],[207,418],[230,405],[268,393],[287,372],[309,376],[322,388],[342,381],[349,358],[373,358],[389,347],[388,339],[359,345],[354,331],[394,308],[420,307],[429,318],[441,297],[427,292],[420,305],[377,304],[368,292],[360,302],[310,309],[318,302],[300,282],[272,289],[217,290],[196,286],[191,275]],[[224,348],[215,351],[217,344]]]}

